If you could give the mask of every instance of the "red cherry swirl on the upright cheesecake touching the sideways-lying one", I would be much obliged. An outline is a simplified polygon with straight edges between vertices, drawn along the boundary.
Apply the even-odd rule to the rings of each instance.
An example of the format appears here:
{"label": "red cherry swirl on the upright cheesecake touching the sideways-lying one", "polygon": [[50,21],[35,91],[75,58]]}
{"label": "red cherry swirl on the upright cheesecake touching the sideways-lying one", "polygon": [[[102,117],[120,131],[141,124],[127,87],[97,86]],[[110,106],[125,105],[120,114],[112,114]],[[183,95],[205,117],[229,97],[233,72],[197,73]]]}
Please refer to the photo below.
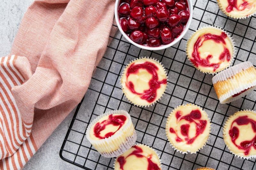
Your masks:
{"label": "red cherry swirl on the upright cheesecake touching the sideways-lying one", "polygon": [[[192,58],[190,61],[196,66],[203,66],[203,67],[213,67],[213,70],[215,71],[217,68],[220,67],[220,64],[227,60],[230,61],[231,56],[228,48],[226,48],[226,42],[225,39],[227,38],[227,34],[225,32],[222,32],[221,35],[214,35],[214,34],[204,34],[201,37],[198,37],[196,40],[196,43],[194,44],[194,51],[192,53]],[[200,53],[198,49],[203,45],[204,41],[206,40],[213,40],[216,43],[222,43],[224,47],[224,51],[219,56],[219,62],[217,63],[210,63],[210,59],[212,58],[212,55],[209,54],[206,59],[203,59],[200,57]]]}

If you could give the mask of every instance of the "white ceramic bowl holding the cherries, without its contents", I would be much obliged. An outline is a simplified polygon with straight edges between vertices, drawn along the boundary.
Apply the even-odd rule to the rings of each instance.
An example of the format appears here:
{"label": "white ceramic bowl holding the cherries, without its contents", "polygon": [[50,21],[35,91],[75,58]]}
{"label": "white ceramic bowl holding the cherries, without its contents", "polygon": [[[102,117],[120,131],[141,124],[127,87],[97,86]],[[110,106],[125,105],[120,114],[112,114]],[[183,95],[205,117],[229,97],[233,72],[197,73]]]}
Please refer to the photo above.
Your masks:
{"label": "white ceramic bowl holding the cherries, without its contents", "polygon": [[119,23],[119,17],[118,17],[118,7],[119,7],[119,2],[120,0],[116,0],[116,4],[115,4],[115,18],[116,18],[116,25],[118,26],[118,29],[119,31],[123,34],[123,36],[130,42],[132,43],[134,46],[137,46],[137,47],[140,47],[142,49],[145,49],[145,50],[162,50],[162,49],[165,49],[165,48],[168,48],[170,46],[173,46],[174,44],[176,44],[178,41],[180,41],[180,39],[182,39],[182,37],[184,37],[184,35],[187,33],[188,31],[188,28],[189,28],[189,25],[192,21],[192,16],[193,16],[193,5],[192,5],[192,0],[187,0],[188,1],[188,9],[189,9],[189,13],[190,13],[190,16],[189,16],[189,19],[188,19],[188,22],[187,22],[187,25],[185,26],[183,32],[180,34],[180,36],[175,39],[174,41],[172,41],[170,44],[166,44],[164,46],[158,46],[158,47],[150,47],[150,46],[143,46],[143,45],[140,45],[140,44],[137,44],[135,43],[134,41],[132,41],[130,39],[130,37],[123,31],[123,29],[121,28],[121,25]]}

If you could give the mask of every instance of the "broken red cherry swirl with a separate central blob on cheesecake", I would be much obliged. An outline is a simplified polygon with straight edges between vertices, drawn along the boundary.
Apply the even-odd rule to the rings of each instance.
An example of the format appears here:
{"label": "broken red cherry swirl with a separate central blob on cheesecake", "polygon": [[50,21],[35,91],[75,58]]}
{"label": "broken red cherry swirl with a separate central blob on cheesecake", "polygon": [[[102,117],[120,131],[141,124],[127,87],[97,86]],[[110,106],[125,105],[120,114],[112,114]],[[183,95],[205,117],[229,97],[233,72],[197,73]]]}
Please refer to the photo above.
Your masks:
{"label": "broken red cherry swirl with a separate central blob on cheesecake", "polygon": [[[186,121],[188,121],[188,124],[182,124],[180,126],[180,133],[185,136],[185,141],[187,142],[187,144],[192,144],[194,143],[194,141],[196,140],[196,138],[202,134],[205,130],[207,121],[206,120],[201,120],[201,112],[200,110],[192,110],[188,115],[186,116],[181,116],[181,111],[177,111],[176,114],[176,119],[177,119],[177,124],[182,120],[185,119]],[[196,124],[196,135],[193,138],[190,138],[188,133],[189,133],[189,127],[190,124],[194,123]],[[179,135],[176,133],[176,131],[171,127],[170,128],[170,132],[171,133],[175,133],[176,134],[176,142],[182,142],[183,140],[179,137]]]}

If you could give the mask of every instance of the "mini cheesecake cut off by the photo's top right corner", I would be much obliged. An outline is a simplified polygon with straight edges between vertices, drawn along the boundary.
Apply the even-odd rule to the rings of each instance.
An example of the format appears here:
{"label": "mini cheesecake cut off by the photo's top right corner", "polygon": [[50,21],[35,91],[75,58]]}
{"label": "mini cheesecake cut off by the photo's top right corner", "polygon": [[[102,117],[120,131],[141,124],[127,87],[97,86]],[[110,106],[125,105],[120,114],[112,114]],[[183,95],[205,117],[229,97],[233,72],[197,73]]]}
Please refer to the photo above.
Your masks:
{"label": "mini cheesecake cut off by the photo's top right corner", "polygon": [[220,10],[232,18],[245,18],[256,12],[256,0],[217,0]]}

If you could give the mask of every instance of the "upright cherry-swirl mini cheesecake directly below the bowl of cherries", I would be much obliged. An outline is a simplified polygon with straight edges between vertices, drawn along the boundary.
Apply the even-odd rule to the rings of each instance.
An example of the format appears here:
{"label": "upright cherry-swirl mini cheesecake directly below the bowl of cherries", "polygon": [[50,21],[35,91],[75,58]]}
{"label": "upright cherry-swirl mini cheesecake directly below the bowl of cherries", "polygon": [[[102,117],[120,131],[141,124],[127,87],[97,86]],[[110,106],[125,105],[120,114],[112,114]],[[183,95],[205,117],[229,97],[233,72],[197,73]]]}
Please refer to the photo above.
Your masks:
{"label": "upright cherry-swirl mini cheesecake directly below the bowl of cherries", "polygon": [[149,106],[164,94],[167,75],[156,60],[140,58],[124,69],[121,85],[124,95],[134,105]]}

